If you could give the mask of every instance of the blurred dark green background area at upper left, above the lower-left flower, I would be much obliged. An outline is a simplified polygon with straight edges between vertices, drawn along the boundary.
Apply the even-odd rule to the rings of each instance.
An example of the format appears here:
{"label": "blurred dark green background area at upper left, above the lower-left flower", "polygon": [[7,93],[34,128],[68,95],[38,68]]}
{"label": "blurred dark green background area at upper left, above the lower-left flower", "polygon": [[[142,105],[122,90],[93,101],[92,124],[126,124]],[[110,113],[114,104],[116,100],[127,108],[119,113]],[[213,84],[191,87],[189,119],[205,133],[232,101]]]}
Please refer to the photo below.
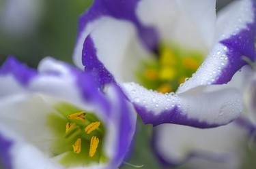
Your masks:
{"label": "blurred dark green background area at upper left, above the lower-left flower", "polygon": [[92,0],[43,0],[43,2],[42,17],[38,25],[25,37],[12,37],[0,32],[0,63],[9,54],[14,54],[31,67],[36,67],[45,56],[53,56],[72,63],[77,20]]}

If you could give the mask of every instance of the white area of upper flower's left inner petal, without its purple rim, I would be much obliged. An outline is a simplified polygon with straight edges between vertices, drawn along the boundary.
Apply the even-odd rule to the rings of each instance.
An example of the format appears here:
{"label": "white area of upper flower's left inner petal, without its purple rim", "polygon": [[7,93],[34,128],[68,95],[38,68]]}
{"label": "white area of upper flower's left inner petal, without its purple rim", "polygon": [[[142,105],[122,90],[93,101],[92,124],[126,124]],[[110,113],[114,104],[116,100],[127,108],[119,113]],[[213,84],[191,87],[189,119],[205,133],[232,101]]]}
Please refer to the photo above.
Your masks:
{"label": "white area of upper flower's left inner petal, without its purple rim", "polygon": [[134,26],[124,20],[102,17],[98,26],[91,31],[98,59],[119,82],[134,81],[132,71],[140,60],[148,56],[137,39]]}

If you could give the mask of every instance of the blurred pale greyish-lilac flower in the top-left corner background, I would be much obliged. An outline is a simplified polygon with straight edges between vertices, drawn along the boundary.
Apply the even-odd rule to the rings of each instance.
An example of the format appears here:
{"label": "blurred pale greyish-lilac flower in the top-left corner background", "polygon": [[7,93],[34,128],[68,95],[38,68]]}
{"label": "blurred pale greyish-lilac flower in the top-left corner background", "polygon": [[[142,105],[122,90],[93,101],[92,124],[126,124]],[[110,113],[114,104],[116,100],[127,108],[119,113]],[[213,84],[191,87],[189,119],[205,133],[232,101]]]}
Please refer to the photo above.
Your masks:
{"label": "blurred pale greyish-lilac flower in the top-left corner background", "polygon": [[35,29],[43,12],[42,0],[0,2],[0,29],[8,35],[27,35]]}

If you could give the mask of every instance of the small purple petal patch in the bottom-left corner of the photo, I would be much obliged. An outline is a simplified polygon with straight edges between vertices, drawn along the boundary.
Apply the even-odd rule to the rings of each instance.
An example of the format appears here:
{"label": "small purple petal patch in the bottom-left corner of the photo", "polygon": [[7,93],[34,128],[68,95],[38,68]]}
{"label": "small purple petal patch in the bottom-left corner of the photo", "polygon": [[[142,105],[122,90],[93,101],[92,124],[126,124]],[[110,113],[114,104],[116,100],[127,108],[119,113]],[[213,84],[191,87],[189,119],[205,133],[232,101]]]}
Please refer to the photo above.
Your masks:
{"label": "small purple petal patch in the bottom-left corner of the photo", "polygon": [[12,169],[12,161],[10,155],[10,148],[12,147],[12,144],[13,143],[11,140],[4,138],[0,134],[0,164],[3,164],[5,169]]}

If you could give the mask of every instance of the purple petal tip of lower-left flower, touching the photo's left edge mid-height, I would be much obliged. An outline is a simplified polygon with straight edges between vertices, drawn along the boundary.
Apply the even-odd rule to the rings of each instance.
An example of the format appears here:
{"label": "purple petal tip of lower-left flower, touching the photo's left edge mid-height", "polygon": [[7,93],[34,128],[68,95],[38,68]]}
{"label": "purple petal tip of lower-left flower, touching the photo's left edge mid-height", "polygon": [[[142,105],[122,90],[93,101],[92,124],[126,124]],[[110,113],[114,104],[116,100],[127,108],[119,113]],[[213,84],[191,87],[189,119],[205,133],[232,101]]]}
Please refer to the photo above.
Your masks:
{"label": "purple petal tip of lower-left flower, touching the photo's left edge mid-height", "polygon": [[26,86],[35,77],[36,71],[18,62],[14,56],[9,56],[0,67],[0,76],[8,74],[14,75],[20,84]]}

